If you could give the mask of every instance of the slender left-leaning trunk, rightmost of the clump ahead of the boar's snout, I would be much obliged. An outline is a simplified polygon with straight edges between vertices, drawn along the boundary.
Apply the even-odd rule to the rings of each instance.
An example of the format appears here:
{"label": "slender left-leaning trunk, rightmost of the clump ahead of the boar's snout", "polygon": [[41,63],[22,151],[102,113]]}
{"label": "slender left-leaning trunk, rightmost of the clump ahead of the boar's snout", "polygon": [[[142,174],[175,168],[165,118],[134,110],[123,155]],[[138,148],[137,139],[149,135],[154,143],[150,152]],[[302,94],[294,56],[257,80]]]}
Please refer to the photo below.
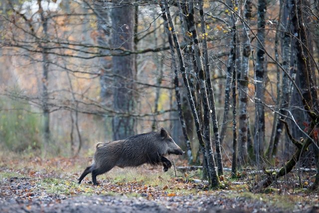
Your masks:
{"label": "slender left-leaning trunk, rightmost of the clump ahead of the boar's snout", "polygon": [[214,97],[214,90],[211,84],[210,79],[210,69],[209,69],[209,57],[208,57],[208,46],[207,46],[207,39],[206,39],[206,22],[204,17],[204,10],[203,10],[203,0],[199,0],[199,13],[200,13],[200,20],[201,20],[201,31],[203,34],[203,55],[205,61],[205,75],[206,75],[206,84],[207,84],[207,91],[208,91],[208,99],[209,105],[211,109],[211,119],[213,124],[213,131],[215,135],[215,147],[216,147],[216,154],[217,154],[217,168],[218,168],[218,175],[223,175],[223,159],[221,155],[220,149],[220,141],[219,141],[219,133],[218,133],[218,122],[216,116],[216,108],[215,108],[215,97]]}

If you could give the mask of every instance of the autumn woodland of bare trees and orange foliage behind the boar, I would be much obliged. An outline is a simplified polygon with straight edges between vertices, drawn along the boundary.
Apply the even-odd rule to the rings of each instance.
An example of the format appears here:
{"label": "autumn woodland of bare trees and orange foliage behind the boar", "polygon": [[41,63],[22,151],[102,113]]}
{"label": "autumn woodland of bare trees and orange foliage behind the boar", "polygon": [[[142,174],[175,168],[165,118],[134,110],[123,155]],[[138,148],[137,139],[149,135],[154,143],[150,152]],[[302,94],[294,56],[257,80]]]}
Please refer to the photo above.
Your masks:
{"label": "autumn woodland of bare trees and orange foliage behind the boar", "polygon": [[283,166],[309,146],[315,166],[318,15],[313,0],[1,0],[0,148],[74,156],[164,127],[190,164],[213,147],[226,167]]}

